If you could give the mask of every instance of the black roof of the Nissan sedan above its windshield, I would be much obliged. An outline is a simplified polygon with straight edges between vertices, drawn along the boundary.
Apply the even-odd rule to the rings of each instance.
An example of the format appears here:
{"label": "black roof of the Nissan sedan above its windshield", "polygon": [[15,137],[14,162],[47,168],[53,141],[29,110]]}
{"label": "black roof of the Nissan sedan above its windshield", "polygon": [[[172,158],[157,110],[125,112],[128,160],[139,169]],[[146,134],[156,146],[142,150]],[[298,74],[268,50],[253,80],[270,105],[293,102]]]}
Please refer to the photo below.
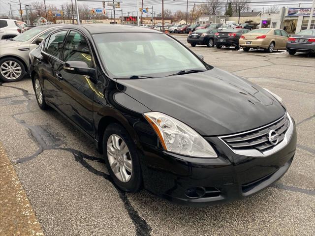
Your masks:
{"label": "black roof of the Nissan sedan above its windshield", "polygon": [[95,33],[118,33],[118,32],[151,32],[162,33],[149,28],[138,27],[133,25],[114,25],[114,24],[82,24],[82,25],[67,25],[63,28],[87,29],[91,34]]}

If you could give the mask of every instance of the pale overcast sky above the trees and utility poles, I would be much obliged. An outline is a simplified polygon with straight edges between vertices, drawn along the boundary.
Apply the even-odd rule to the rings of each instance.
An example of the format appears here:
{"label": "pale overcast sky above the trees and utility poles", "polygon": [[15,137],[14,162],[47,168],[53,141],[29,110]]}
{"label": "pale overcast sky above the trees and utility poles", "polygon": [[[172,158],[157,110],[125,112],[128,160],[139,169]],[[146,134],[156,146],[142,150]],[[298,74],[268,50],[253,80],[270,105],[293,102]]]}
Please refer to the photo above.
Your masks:
{"label": "pale overcast sky above the trees and utility poles", "polygon": [[[43,0],[38,0],[38,1],[43,1]],[[197,2],[201,2],[202,0],[196,0]],[[221,0],[222,2],[226,2],[225,0]],[[272,1],[272,0],[252,0],[252,2],[257,2],[257,1]],[[288,0],[288,2],[284,2],[285,0],[279,0],[281,1],[281,4],[284,4],[283,6],[289,6],[289,7],[298,7],[299,3],[301,2],[301,7],[311,7],[311,0],[296,0],[294,1],[294,3],[292,2],[292,0]],[[290,2],[289,2],[290,1]],[[9,2],[11,2],[11,7],[12,7],[12,12],[13,15],[18,15],[18,9],[20,8],[18,0],[0,0],[0,13],[5,13],[7,14],[9,11]],[[161,1],[158,0],[144,0],[144,7],[151,7],[153,5],[154,11],[157,13],[160,13],[162,10],[162,4],[160,3]],[[171,2],[174,2],[174,4],[183,4],[183,5],[174,5],[174,4],[170,4]],[[184,5],[185,0],[164,0],[164,9],[170,9],[172,12],[175,12],[177,10],[182,10],[182,11],[186,11],[186,6]],[[189,4],[193,4],[194,0],[189,0]],[[274,0],[274,2],[277,2],[277,0]],[[32,3],[32,0],[21,0],[22,3],[22,9],[25,8],[24,4],[30,4]],[[46,5],[49,4],[55,4],[57,7],[61,7],[62,4],[64,3],[71,3],[71,0],[46,0]],[[74,0],[73,0],[74,3]],[[95,2],[91,2],[91,1],[79,1],[79,4],[82,3],[86,3],[89,6],[91,6],[91,8],[100,8],[102,7],[102,2],[101,1],[95,1]],[[137,10],[137,6],[136,6],[137,1],[136,0],[122,0],[121,3],[121,8],[123,9],[124,15],[127,14],[127,12],[132,12],[134,11],[132,14],[136,15],[136,10]],[[293,4],[292,4],[293,3]],[[258,4],[258,3],[257,3]],[[257,5],[256,4],[256,5]],[[270,5],[271,3],[269,3]],[[280,4],[280,3],[277,3]],[[139,0],[139,5],[141,7],[141,0]],[[255,11],[260,11],[262,10],[262,7],[264,6],[264,8],[266,9],[268,6],[266,4],[263,3],[259,3],[260,6],[252,6],[252,10]],[[282,6],[279,6],[279,8]],[[106,8],[111,8],[111,7],[106,7]],[[192,6],[189,6],[190,10],[192,9]],[[224,9],[222,10],[224,11]],[[151,12],[151,10],[150,10]],[[130,15],[132,15],[130,13]]]}

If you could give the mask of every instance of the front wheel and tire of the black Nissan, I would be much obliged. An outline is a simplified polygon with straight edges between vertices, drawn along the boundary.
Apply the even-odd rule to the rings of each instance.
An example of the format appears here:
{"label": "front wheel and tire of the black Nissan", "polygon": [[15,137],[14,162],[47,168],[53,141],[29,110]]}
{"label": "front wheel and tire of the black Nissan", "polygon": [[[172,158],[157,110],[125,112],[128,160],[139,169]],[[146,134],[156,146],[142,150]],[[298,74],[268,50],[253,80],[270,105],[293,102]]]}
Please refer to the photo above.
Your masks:
{"label": "front wheel and tire of the black Nissan", "polygon": [[[123,154],[120,148],[126,153]],[[107,126],[103,135],[103,150],[108,172],[115,185],[125,192],[139,191],[142,186],[139,157],[135,144],[122,125],[112,123]]]}

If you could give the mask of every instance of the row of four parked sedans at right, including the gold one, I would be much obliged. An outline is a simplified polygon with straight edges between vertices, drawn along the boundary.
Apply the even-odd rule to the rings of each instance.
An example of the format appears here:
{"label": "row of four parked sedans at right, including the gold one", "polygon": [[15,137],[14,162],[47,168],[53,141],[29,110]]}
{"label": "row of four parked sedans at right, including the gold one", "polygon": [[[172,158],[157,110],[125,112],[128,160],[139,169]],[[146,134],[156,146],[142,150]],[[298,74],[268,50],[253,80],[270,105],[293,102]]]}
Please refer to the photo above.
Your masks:
{"label": "row of four parked sedans at right, including the gold one", "polygon": [[236,50],[240,47],[245,52],[253,49],[263,49],[272,53],[274,50],[287,50],[290,55],[296,52],[315,53],[315,29],[306,29],[301,32],[288,35],[283,29],[198,29],[190,33],[187,42],[195,47],[196,45],[216,46],[221,49],[223,46],[233,46]]}

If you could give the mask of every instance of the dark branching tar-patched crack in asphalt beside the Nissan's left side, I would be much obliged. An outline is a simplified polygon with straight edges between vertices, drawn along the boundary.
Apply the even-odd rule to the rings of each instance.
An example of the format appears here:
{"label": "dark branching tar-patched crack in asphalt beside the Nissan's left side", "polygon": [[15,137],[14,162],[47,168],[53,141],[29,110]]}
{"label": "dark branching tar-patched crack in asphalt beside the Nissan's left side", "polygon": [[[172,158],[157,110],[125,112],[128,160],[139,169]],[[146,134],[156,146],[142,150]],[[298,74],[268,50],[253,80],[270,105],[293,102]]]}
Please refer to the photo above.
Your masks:
{"label": "dark branching tar-patched crack in asphalt beside the Nissan's left side", "polygon": [[136,230],[136,235],[137,236],[149,236],[152,228],[148,225],[148,223],[142,219],[139,215],[139,213],[134,209],[134,207],[131,205],[128,196],[126,195],[126,192],[121,191],[120,189],[117,188],[117,186],[114,184],[112,178],[107,175],[104,172],[98,171],[95,168],[93,168],[85,159],[92,160],[92,161],[97,161],[101,163],[105,163],[103,159],[90,156],[86,153],[83,153],[79,150],[73,149],[73,148],[62,148],[61,146],[64,145],[63,139],[58,138],[56,135],[54,135],[51,131],[49,131],[49,125],[29,125],[27,122],[23,119],[19,119],[16,116],[18,115],[23,115],[23,114],[30,114],[34,113],[34,111],[30,110],[30,103],[32,101],[31,96],[34,96],[33,94],[29,93],[28,90],[26,89],[21,89],[13,86],[3,86],[3,87],[9,87],[12,89],[18,89],[23,92],[23,95],[27,101],[21,101],[22,102],[27,102],[28,105],[26,106],[28,112],[22,112],[22,113],[17,113],[12,116],[16,120],[16,122],[20,123],[24,127],[26,127],[30,132],[29,132],[29,137],[37,143],[38,149],[33,153],[31,156],[27,157],[22,157],[15,161],[13,165],[17,164],[22,164],[27,161],[30,161],[34,158],[36,158],[39,154],[41,154],[45,150],[63,150],[63,151],[68,151],[73,154],[75,161],[79,162],[84,168],[86,168],[89,172],[103,177],[104,179],[110,181],[113,186],[116,188],[118,195],[122,202],[124,203],[124,207],[130,217],[130,220],[132,221],[135,230]]}

